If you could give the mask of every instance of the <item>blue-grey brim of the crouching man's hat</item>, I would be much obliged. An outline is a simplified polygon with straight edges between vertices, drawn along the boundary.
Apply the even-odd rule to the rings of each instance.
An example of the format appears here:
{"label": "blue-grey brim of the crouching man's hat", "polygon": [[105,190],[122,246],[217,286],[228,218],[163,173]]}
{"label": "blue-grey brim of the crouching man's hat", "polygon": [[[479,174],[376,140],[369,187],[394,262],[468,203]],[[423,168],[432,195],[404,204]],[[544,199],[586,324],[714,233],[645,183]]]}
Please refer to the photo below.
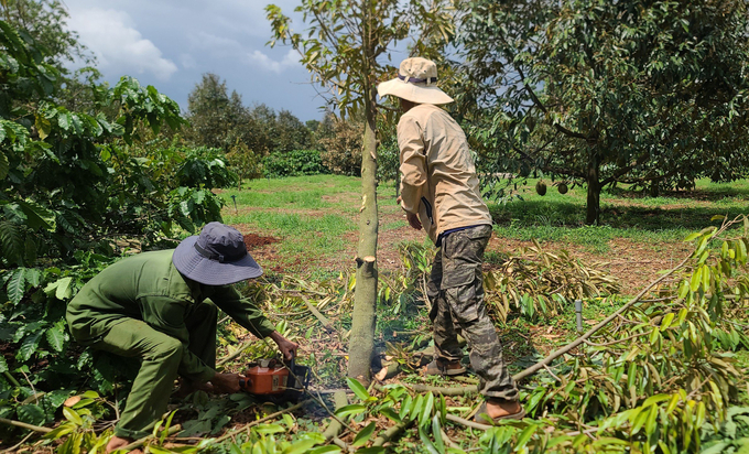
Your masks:
{"label": "blue-grey brim of the crouching man's hat", "polygon": [[220,263],[200,256],[197,236],[187,237],[174,250],[172,263],[184,277],[206,285],[227,285],[262,274],[262,268],[248,252],[240,260]]}

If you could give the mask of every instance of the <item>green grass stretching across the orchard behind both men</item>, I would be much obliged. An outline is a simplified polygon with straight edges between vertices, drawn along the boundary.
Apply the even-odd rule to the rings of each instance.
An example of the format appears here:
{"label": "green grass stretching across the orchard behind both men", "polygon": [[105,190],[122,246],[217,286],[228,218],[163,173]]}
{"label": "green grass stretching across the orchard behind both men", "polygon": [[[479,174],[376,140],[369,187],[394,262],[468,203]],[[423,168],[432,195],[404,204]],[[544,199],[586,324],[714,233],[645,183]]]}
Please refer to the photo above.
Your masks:
{"label": "green grass stretching across the orchard behind both men", "polygon": [[[535,239],[569,251],[591,253],[597,256],[594,260],[601,261],[608,261],[615,247],[618,255],[632,255],[636,259],[639,252],[631,249],[645,248],[651,256],[673,256],[687,235],[717,225],[719,221],[710,220],[714,215],[735,216],[749,207],[749,181],[715,184],[703,180],[693,192],[664,193],[660,197],[620,186],[601,194],[601,225],[586,226],[584,187],[573,187],[562,195],[549,185],[546,195],[540,196],[534,190],[536,181],[531,179],[518,186],[522,199],[489,204],[500,244]],[[243,233],[281,240],[273,245],[273,253],[262,257],[264,264],[282,264],[287,271],[307,277],[333,275],[351,268],[360,185],[358,177],[336,175],[248,181],[242,191],[221,192],[227,201],[224,220],[240,226]],[[236,209],[231,196],[236,198]],[[408,239],[405,234],[411,234],[413,238],[394,201],[393,184],[380,184],[380,233],[397,236],[403,233],[403,240]],[[392,256],[397,241],[381,242],[379,253]],[[511,250],[489,249],[487,261],[500,263],[508,251]],[[292,262],[302,264],[290,268]]]}

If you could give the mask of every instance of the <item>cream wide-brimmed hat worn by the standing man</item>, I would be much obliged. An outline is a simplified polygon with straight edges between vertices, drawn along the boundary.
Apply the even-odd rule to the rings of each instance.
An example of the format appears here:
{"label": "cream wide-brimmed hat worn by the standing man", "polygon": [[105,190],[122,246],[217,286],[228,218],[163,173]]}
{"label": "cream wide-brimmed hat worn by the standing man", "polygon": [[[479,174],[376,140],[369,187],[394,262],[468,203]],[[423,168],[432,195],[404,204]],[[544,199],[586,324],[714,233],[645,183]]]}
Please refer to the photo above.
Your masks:
{"label": "cream wide-brimmed hat worn by the standing man", "polygon": [[448,104],[453,98],[437,87],[437,65],[422,57],[401,62],[398,77],[377,86],[380,96],[397,96],[415,104]]}

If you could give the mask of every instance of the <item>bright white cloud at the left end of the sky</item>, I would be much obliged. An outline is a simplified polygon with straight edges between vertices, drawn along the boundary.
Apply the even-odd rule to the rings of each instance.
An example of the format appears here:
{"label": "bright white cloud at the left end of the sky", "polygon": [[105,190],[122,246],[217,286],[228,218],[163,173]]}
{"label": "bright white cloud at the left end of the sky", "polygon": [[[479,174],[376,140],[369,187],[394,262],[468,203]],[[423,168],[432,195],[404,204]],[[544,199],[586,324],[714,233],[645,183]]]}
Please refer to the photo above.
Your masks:
{"label": "bright white cloud at the left end of the sky", "polygon": [[131,23],[130,15],[123,11],[99,8],[76,10],[68,20],[68,26],[78,32],[80,42],[96,55],[101,69],[148,73],[169,80],[177,66],[164,58],[159,47]]}

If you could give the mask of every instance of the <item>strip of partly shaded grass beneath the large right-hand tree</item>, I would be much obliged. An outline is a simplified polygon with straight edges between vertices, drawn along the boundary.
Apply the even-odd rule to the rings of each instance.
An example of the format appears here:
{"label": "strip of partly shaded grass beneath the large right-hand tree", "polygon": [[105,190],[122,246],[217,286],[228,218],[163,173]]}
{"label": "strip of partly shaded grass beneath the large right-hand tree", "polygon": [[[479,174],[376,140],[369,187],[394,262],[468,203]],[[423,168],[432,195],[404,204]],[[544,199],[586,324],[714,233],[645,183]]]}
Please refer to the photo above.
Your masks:
{"label": "strip of partly shaded grass beneath the large right-hand tree", "polygon": [[710,220],[713,216],[732,217],[746,213],[749,206],[749,181],[715,184],[701,180],[694,192],[660,197],[617,188],[601,194],[601,224],[586,226],[584,187],[565,195],[550,187],[545,196],[540,196],[533,190],[536,181],[529,180],[518,187],[522,201],[490,205],[497,236],[561,241],[605,253],[617,238],[651,247],[680,241],[695,230],[717,225],[719,221]]}

